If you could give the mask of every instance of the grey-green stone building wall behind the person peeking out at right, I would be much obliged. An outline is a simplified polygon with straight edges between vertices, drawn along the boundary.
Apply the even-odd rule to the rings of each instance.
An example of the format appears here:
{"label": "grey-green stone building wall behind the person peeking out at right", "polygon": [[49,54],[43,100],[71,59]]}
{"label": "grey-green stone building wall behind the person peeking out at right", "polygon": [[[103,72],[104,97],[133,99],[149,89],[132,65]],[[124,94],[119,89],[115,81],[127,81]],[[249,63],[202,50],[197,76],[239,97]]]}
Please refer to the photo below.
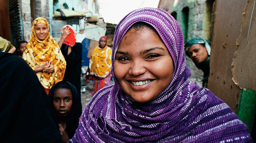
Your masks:
{"label": "grey-green stone building wall behind the person peeking out at right", "polygon": [[[201,37],[212,42],[212,5],[215,0],[160,0],[161,8],[178,21],[184,42],[191,38]],[[202,85],[203,72],[198,70],[193,61],[186,55],[187,66],[191,70],[190,80]]]}

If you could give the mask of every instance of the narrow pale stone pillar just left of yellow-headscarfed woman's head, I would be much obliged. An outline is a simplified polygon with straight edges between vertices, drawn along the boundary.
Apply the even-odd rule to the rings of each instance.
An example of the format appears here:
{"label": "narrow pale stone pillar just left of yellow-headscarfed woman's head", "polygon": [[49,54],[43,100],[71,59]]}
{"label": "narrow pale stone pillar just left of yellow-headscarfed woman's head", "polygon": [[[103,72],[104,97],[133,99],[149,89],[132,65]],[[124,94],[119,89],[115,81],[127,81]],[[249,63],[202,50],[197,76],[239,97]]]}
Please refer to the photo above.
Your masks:
{"label": "narrow pale stone pillar just left of yellow-headscarfed woman's head", "polygon": [[29,41],[32,26],[30,0],[21,0],[21,5],[24,40]]}

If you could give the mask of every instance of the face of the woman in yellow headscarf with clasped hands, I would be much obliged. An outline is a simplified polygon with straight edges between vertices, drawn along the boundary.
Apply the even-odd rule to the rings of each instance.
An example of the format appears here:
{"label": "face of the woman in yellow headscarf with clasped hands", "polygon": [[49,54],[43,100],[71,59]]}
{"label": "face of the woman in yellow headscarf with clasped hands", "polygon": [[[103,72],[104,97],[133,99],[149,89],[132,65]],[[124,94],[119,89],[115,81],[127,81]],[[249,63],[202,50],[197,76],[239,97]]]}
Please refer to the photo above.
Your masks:
{"label": "face of the woman in yellow headscarf with clasped hands", "polygon": [[36,36],[39,40],[43,41],[47,36],[48,36],[48,28],[46,24],[44,23],[39,23],[37,26],[35,26],[35,32]]}

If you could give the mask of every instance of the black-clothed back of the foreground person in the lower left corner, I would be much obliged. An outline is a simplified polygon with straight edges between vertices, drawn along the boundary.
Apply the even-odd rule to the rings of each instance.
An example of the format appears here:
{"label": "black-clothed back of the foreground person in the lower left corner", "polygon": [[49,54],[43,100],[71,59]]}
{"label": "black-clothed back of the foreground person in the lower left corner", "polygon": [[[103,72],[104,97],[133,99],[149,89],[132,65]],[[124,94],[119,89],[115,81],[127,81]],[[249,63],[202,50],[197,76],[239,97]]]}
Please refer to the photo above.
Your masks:
{"label": "black-clothed back of the foreground person in the lower left corner", "polygon": [[0,52],[0,142],[62,143],[36,73],[20,57]]}

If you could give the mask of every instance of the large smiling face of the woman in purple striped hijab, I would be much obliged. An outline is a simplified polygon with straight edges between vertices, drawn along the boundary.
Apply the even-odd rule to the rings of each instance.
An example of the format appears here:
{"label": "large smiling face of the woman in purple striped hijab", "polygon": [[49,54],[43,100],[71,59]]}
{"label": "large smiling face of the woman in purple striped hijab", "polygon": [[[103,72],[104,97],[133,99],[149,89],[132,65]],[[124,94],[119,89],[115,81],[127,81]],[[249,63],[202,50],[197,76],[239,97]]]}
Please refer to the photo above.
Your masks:
{"label": "large smiling face of the woman in purple striped hijab", "polygon": [[133,100],[154,100],[170,84],[173,70],[172,57],[153,30],[132,28],[124,35],[115,56],[114,74]]}

